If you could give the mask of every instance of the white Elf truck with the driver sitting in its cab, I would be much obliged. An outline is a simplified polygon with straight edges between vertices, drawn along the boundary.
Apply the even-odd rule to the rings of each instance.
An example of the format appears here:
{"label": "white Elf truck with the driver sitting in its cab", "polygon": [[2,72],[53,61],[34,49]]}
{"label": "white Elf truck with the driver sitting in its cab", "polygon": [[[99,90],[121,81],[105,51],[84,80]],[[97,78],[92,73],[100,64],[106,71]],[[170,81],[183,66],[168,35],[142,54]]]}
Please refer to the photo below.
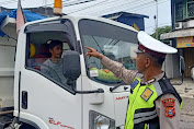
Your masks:
{"label": "white Elf truck with the driver sitting in its cab", "polygon": [[[133,27],[103,17],[64,15],[26,23],[18,43],[1,37],[0,129],[124,129],[130,86],[85,57],[84,46],[135,69],[136,35]],[[58,77],[44,64],[53,39],[64,44],[66,84],[41,70]]]}

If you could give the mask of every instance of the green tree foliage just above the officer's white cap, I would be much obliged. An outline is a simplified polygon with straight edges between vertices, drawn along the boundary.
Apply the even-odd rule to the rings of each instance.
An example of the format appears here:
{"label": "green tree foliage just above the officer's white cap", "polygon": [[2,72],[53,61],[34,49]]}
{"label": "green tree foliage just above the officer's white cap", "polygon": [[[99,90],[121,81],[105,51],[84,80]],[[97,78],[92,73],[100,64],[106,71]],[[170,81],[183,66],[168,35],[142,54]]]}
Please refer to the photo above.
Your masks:
{"label": "green tree foliage just above the officer's white cap", "polygon": [[[169,39],[166,39],[166,40],[160,39],[160,35],[161,35],[161,34],[164,34],[164,33],[171,32],[171,31],[172,31],[172,27],[171,27],[171,26],[158,27],[157,31],[158,31],[158,39],[159,39],[159,40],[161,40],[161,42],[163,42],[163,43],[167,43],[167,44],[170,43]],[[156,36],[157,36],[157,35],[156,35],[156,32],[155,32],[153,34],[151,34],[151,36],[155,37],[155,38],[157,38],[157,37],[156,37]]]}

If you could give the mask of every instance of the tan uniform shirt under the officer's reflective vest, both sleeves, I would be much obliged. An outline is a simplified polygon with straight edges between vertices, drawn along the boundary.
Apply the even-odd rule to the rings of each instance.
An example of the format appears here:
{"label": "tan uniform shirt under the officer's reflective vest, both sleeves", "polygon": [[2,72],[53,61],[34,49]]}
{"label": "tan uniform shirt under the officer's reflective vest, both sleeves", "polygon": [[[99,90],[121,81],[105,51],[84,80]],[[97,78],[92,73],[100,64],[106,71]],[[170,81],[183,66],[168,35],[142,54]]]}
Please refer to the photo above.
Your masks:
{"label": "tan uniform shirt under the officer's reflective vest, both sleeves", "polygon": [[[153,78],[155,81],[150,80],[146,82],[144,80],[144,75],[141,73],[138,73],[138,71],[125,69],[125,67],[122,63],[113,61],[109,59],[107,57],[102,58],[102,64],[105,66],[107,69],[110,69],[115,74],[115,77],[122,79],[125,83],[129,85],[133,83],[136,77],[141,79],[141,82],[147,85],[147,84],[152,84],[156,81],[159,81],[164,75],[164,72],[162,72],[161,74]],[[175,99],[175,104],[174,104],[175,116],[172,118],[168,117],[166,114],[167,107],[162,104],[162,101],[164,99]],[[160,119],[160,129],[180,129],[180,122],[181,122],[180,121],[180,116],[181,116],[180,103],[174,95],[164,94],[160,96],[156,101],[156,109],[157,109],[158,117]]]}

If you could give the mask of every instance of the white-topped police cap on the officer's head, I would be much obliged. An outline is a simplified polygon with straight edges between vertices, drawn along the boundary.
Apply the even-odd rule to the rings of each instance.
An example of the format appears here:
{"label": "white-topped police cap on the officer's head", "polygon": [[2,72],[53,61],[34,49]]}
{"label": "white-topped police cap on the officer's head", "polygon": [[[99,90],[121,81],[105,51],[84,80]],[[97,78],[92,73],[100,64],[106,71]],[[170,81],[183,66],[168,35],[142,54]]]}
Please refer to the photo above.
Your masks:
{"label": "white-topped police cap on the officer's head", "polygon": [[164,43],[155,39],[147,33],[140,31],[137,35],[139,46],[138,50],[136,52],[148,52],[156,55],[158,57],[163,57],[166,54],[175,54],[178,52],[178,49],[166,45]]}

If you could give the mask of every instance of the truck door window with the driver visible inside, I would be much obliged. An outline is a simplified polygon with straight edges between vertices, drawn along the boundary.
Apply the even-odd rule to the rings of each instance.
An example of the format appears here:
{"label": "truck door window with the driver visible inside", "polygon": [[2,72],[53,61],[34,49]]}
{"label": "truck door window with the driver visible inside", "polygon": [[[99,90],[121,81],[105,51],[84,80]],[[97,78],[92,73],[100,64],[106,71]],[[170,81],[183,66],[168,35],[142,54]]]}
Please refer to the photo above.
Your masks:
{"label": "truck door window with the driver visible inside", "polygon": [[62,74],[62,54],[73,49],[69,36],[62,32],[27,34],[26,67],[53,82],[71,89]]}

